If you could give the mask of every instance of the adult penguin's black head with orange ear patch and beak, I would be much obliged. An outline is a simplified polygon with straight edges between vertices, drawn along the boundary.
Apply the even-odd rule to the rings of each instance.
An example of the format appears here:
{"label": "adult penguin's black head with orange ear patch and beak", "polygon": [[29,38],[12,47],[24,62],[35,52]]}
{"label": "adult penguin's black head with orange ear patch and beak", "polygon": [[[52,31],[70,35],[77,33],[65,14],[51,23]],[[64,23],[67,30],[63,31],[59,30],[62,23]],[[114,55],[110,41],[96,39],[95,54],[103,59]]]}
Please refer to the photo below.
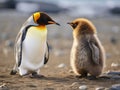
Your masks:
{"label": "adult penguin's black head with orange ear patch and beak", "polygon": [[59,23],[52,20],[51,17],[49,17],[47,14],[43,12],[36,12],[33,14],[33,20],[35,23],[39,25],[49,25],[49,24],[56,24],[60,25]]}

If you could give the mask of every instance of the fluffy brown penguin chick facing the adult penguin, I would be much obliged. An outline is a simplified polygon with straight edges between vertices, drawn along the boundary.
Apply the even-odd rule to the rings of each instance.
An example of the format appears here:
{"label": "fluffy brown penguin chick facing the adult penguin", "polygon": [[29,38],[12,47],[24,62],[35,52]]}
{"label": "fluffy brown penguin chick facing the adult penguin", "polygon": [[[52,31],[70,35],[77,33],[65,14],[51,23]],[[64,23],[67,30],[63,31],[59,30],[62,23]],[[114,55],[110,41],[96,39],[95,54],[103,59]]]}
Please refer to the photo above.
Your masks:
{"label": "fluffy brown penguin chick facing the adult penguin", "polygon": [[95,26],[87,19],[78,18],[68,23],[73,28],[73,46],[70,64],[81,77],[99,76],[105,61],[105,52],[96,34]]}

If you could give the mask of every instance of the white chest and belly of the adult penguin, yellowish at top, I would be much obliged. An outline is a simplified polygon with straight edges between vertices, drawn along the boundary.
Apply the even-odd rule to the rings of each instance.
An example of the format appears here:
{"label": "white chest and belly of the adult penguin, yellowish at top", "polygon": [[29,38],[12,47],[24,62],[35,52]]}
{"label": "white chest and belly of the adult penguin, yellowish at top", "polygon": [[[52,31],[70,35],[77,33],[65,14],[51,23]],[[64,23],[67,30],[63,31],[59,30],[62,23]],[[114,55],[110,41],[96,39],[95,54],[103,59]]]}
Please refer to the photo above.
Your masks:
{"label": "white chest and belly of the adult penguin, yellowish at top", "polygon": [[30,70],[37,70],[44,65],[46,51],[47,29],[30,28],[23,41],[22,66]]}

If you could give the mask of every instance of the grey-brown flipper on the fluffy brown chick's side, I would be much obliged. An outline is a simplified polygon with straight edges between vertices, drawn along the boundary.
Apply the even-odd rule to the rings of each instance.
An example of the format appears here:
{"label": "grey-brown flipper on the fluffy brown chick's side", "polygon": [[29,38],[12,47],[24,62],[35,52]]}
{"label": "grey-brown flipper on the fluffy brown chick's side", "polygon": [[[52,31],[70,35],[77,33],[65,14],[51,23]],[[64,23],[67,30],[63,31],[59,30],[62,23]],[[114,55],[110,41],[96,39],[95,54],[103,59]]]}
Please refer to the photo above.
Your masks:
{"label": "grey-brown flipper on the fluffy brown chick's side", "polygon": [[99,48],[96,46],[95,43],[89,42],[89,47],[92,52],[92,60],[95,64],[99,64],[99,56],[100,56],[100,51]]}

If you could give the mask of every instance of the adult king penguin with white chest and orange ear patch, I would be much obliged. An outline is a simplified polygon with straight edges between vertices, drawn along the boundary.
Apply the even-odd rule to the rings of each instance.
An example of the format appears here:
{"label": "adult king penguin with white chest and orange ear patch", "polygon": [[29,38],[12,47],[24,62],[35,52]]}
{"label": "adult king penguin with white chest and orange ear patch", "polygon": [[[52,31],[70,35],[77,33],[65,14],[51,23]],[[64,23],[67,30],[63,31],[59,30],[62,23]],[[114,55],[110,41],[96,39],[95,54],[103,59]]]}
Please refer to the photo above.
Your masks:
{"label": "adult king penguin with white chest and orange ear patch", "polygon": [[46,25],[57,24],[43,12],[35,12],[23,24],[15,42],[16,64],[11,75],[40,75],[39,70],[49,59]]}

